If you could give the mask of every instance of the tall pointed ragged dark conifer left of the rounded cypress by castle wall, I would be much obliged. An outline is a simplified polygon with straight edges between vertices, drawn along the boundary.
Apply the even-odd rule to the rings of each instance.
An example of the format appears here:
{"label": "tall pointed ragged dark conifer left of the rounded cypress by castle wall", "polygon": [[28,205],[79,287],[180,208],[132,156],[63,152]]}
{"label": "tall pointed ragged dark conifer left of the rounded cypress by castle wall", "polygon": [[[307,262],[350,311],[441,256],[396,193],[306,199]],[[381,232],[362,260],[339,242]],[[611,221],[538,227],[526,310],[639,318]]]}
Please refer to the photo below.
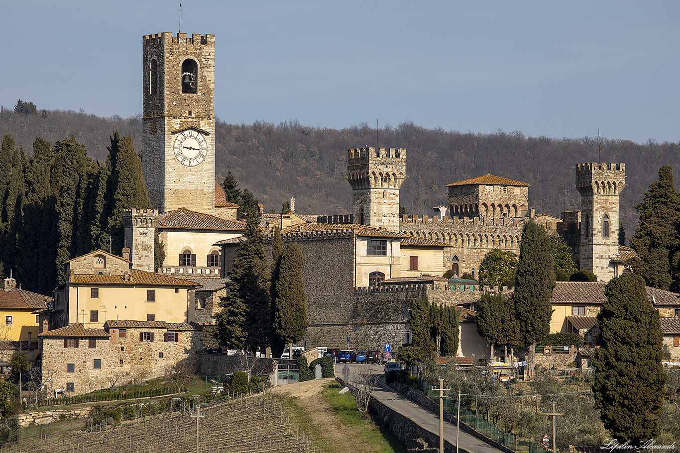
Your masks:
{"label": "tall pointed ragged dark conifer left of the rounded cypress by castle wall", "polygon": [[269,340],[270,272],[262,245],[260,218],[256,212],[246,217],[243,242],[228,273],[230,295],[220,301],[215,315],[220,344],[254,350]]}

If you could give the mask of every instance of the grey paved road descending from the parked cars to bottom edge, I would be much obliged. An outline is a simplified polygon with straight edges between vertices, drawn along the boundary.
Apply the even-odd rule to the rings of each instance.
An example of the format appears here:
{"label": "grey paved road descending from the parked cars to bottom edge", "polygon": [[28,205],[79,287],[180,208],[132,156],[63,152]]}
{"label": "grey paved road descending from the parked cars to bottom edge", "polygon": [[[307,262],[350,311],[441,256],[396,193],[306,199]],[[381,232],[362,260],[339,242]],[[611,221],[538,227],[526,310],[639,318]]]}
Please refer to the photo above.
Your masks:
{"label": "grey paved road descending from the parked cars to bottom edge", "polygon": [[[335,373],[337,376],[342,376],[342,369],[344,366],[345,365],[343,363],[338,363],[335,365]],[[360,370],[371,370],[371,372],[375,374],[382,373],[384,371],[384,366],[379,365],[357,365],[352,363],[348,364],[347,367],[350,369],[350,382],[353,381],[353,374],[356,375],[358,372],[360,372]],[[371,395],[384,405],[390,407],[392,410],[410,418],[420,427],[439,436],[439,414],[432,414],[432,412],[426,410],[424,407],[415,404],[413,401],[399,395],[385,385],[384,379],[380,380],[379,384],[377,384]],[[455,424],[444,422],[444,438],[451,442],[453,446],[456,445]],[[437,448],[439,447],[439,444],[430,447]],[[466,450],[471,453],[501,452],[501,450],[493,448],[488,443],[483,442],[477,439],[477,437],[469,435],[468,433],[464,433],[463,431],[460,431],[460,448],[461,450]]]}

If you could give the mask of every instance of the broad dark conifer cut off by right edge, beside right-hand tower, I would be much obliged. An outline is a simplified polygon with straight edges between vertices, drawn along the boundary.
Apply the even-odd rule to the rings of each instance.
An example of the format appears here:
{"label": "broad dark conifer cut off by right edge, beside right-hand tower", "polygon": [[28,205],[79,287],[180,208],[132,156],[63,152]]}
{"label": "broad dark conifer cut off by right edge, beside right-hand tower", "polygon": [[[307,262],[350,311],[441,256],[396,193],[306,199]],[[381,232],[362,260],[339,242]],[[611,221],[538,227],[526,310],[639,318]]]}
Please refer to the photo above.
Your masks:
{"label": "broad dark conifer cut off by right edge, beside right-hand tower", "polygon": [[668,289],[680,278],[679,205],[673,168],[664,165],[659,169],[659,179],[649,185],[643,201],[635,206],[640,219],[630,238],[630,247],[639,257],[633,270],[648,286]]}

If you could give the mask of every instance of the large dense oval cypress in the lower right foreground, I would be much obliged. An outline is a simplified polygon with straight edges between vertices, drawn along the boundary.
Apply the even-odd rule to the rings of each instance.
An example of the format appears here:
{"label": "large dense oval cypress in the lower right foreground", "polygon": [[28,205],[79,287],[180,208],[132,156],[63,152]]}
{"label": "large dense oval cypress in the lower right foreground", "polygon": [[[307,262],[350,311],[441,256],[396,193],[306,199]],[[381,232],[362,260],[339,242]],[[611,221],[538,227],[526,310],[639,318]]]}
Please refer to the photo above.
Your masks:
{"label": "large dense oval cypress in the lower right foreground", "polygon": [[663,411],[667,377],[659,312],[636,274],[613,278],[605,295],[607,302],[597,316],[600,348],[592,362],[593,396],[611,435],[637,446],[658,435]]}

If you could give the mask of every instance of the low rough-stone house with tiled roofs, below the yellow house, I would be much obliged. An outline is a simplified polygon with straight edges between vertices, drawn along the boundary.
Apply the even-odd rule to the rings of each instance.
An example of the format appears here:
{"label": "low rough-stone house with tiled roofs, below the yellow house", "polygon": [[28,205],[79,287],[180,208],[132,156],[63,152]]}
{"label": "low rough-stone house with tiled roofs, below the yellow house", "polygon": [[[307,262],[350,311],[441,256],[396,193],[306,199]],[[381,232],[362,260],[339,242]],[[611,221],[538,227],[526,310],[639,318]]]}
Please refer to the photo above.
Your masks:
{"label": "low rough-stone house with tiled roofs, below the yellow house", "polygon": [[177,363],[194,366],[203,332],[194,323],[73,323],[39,335],[43,385],[50,395],[81,395],[163,376]]}

